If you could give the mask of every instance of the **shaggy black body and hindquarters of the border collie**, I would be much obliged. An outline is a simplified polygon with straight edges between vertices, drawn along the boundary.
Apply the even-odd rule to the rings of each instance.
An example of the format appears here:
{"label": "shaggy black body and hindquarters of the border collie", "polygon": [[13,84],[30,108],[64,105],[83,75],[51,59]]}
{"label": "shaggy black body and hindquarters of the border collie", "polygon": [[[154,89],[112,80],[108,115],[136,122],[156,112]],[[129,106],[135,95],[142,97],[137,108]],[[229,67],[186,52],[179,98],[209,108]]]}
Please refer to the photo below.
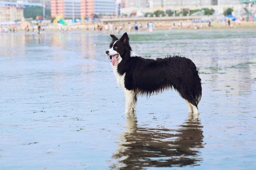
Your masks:
{"label": "shaggy black body and hindquarters of the border collie", "polygon": [[[174,88],[180,95],[197,106],[201,99],[201,78],[191,59],[185,57],[166,57],[165,59],[128,59],[125,87],[137,94],[151,95]],[[121,67],[121,63],[118,67]],[[118,69],[119,70],[119,69]]]}

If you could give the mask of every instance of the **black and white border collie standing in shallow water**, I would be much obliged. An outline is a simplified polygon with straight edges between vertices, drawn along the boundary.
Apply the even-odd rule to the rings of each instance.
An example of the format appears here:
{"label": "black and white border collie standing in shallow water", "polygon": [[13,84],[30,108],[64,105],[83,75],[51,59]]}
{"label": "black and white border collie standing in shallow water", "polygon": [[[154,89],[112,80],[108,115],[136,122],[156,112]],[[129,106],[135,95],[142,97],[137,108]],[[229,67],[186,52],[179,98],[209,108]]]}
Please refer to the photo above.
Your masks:
{"label": "black and white border collie standing in shallow water", "polygon": [[125,92],[126,113],[136,110],[137,95],[150,96],[174,88],[186,100],[189,112],[199,114],[201,78],[191,59],[180,56],[144,59],[132,51],[127,33],[120,39],[110,36],[112,42],[106,54]]}

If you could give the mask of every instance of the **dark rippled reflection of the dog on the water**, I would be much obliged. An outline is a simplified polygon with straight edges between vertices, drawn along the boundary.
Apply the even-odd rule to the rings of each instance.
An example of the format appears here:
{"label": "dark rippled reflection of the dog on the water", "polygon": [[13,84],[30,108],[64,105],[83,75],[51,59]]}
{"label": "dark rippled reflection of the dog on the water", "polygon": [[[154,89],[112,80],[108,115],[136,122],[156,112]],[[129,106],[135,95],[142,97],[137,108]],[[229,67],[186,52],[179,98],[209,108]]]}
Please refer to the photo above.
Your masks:
{"label": "dark rippled reflection of the dog on the water", "polygon": [[126,116],[126,132],[119,136],[122,143],[112,156],[111,169],[196,166],[202,161],[202,126],[192,114],[177,129],[138,126],[136,114]]}

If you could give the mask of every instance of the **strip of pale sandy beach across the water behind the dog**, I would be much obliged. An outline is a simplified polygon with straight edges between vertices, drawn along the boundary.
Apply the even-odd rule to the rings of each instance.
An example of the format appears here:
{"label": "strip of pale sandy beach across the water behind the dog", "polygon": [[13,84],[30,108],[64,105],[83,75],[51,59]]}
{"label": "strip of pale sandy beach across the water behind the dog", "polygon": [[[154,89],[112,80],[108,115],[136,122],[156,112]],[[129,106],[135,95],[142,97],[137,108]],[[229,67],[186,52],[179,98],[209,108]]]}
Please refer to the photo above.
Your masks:
{"label": "strip of pale sandy beach across the water behind the dog", "polygon": [[[139,31],[148,31],[147,30],[147,23],[139,23],[141,26],[138,28]],[[110,24],[110,23],[108,23]],[[120,26],[122,29],[120,29]],[[166,30],[236,30],[236,29],[256,29],[256,22],[246,22],[241,21],[240,24],[238,22],[228,22],[221,23],[220,21],[213,21],[210,23],[192,23],[191,21],[174,21],[170,23],[161,23],[155,22],[153,23],[153,30],[154,31],[166,31]],[[1,26],[0,33],[5,34],[4,27]],[[16,27],[16,26],[15,26]],[[16,27],[17,31],[14,32],[14,26],[8,26],[9,31],[7,33],[37,33],[37,26],[29,26],[29,31],[25,30],[25,27]],[[117,29],[115,29],[117,28]],[[113,23],[113,31],[108,30],[108,32],[104,29],[104,23],[102,22],[95,22],[95,23],[86,23],[86,24],[75,24],[74,26],[63,26],[63,25],[44,25],[42,26],[41,34],[50,33],[50,32],[102,32],[106,34],[120,34],[120,32],[129,32],[128,30],[128,23],[121,22],[121,23]],[[135,33],[134,23],[131,23],[131,33]]]}

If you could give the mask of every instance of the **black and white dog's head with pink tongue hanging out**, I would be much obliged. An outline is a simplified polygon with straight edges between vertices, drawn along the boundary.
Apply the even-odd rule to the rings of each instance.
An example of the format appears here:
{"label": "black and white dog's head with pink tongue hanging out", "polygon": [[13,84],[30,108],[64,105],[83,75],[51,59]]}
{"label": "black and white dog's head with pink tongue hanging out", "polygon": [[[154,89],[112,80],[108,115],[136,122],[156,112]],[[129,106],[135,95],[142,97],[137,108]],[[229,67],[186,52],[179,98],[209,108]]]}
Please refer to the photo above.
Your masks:
{"label": "black and white dog's head with pink tongue hanging out", "polygon": [[122,59],[128,59],[130,57],[131,47],[129,45],[128,34],[125,33],[118,39],[115,35],[110,35],[112,42],[110,43],[110,49],[106,51],[106,54],[110,56],[110,61],[113,66],[116,66]]}

